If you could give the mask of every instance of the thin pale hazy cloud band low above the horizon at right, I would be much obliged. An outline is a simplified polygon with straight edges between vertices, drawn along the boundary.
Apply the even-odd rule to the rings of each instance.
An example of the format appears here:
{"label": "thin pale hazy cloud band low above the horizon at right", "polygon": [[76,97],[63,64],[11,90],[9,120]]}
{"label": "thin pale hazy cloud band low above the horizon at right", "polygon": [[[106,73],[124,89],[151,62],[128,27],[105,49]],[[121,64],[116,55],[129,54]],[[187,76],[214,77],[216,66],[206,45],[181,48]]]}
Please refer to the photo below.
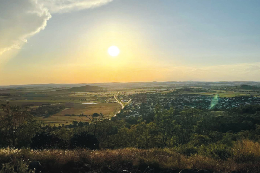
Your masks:
{"label": "thin pale hazy cloud band low above the horizon at right", "polygon": [[[173,66],[173,65],[172,65]],[[168,67],[165,81],[260,81],[260,63]],[[155,79],[160,80],[160,79]]]}

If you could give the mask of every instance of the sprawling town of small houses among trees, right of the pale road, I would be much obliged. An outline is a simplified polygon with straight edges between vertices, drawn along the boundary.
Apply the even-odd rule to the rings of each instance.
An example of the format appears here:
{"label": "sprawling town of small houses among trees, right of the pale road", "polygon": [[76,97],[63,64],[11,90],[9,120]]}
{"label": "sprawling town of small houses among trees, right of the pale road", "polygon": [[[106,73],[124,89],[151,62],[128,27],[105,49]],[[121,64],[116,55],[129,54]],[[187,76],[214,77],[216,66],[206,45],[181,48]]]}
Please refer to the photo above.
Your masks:
{"label": "sprawling town of small houses among trees, right of the pale road", "polygon": [[129,95],[129,97],[131,97],[132,100],[125,108],[124,112],[128,112],[126,117],[135,117],[152,113],[154,111],[154,106],[157,104],[165,109],[170,109],[171,107],[184,109],[186,106],[190,108],[214,110],[225,110],[244,105],[260,104],[260,97],[239,96],[220,98],[218,97],[218,94],[214,97],[197,94],[175,94],[175,92],[172,92],[167,94],[132,94]]}

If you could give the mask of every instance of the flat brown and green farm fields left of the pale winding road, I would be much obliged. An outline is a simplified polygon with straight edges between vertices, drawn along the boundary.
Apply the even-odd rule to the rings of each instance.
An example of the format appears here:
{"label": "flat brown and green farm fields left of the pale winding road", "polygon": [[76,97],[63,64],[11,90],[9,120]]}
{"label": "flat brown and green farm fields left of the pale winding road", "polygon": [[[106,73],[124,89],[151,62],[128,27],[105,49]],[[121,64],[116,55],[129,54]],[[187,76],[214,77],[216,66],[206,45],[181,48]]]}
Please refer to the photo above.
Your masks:
{"label": "flat brown and green farm fields left of the pale winding road", "polygon": [[2,89],[0,90],[0,104],[29,107],[37,109],[39,106],[64,106],[65,109],[53,115],[37,116],[45,124],[70,124],[72,121],[89,121],[85,115],[102,113],[110,118],[121,109],[121,105],[114,99],[119,95],[117,91],[105,90],[97,92],[71,92],[67,88],[42,89]]}

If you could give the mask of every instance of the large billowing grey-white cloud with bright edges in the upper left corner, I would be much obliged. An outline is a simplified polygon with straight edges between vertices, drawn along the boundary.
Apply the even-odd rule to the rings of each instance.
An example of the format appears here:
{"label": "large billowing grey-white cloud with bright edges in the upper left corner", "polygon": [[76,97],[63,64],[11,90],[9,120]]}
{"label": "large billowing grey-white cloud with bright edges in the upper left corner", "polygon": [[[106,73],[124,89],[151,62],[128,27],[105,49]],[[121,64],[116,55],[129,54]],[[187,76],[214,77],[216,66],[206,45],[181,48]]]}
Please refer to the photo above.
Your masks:
{"label": "large billowing grey-white cloud with bright edges in the upper left corner", "polygon": [[112,0],[0,1],[0,56],[21,49],[27,39],[43,30],[53,13],[65,13],[104,5]]}

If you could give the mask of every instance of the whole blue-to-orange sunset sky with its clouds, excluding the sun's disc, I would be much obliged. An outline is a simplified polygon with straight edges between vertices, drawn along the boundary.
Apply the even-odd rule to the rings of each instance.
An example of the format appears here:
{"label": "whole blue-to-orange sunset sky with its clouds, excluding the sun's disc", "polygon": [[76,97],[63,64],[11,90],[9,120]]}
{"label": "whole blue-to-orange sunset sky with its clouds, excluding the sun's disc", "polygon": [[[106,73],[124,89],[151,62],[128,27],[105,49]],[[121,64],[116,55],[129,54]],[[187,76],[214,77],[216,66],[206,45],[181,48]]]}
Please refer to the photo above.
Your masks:
{"label": "whole blue-to-orange sunset sky with its clouds, excluding the sun's disc", "polygon": [[[1,0],[0,85],[260,81],[260,1]],[[117,46],[112,57],[107,49]]]}

